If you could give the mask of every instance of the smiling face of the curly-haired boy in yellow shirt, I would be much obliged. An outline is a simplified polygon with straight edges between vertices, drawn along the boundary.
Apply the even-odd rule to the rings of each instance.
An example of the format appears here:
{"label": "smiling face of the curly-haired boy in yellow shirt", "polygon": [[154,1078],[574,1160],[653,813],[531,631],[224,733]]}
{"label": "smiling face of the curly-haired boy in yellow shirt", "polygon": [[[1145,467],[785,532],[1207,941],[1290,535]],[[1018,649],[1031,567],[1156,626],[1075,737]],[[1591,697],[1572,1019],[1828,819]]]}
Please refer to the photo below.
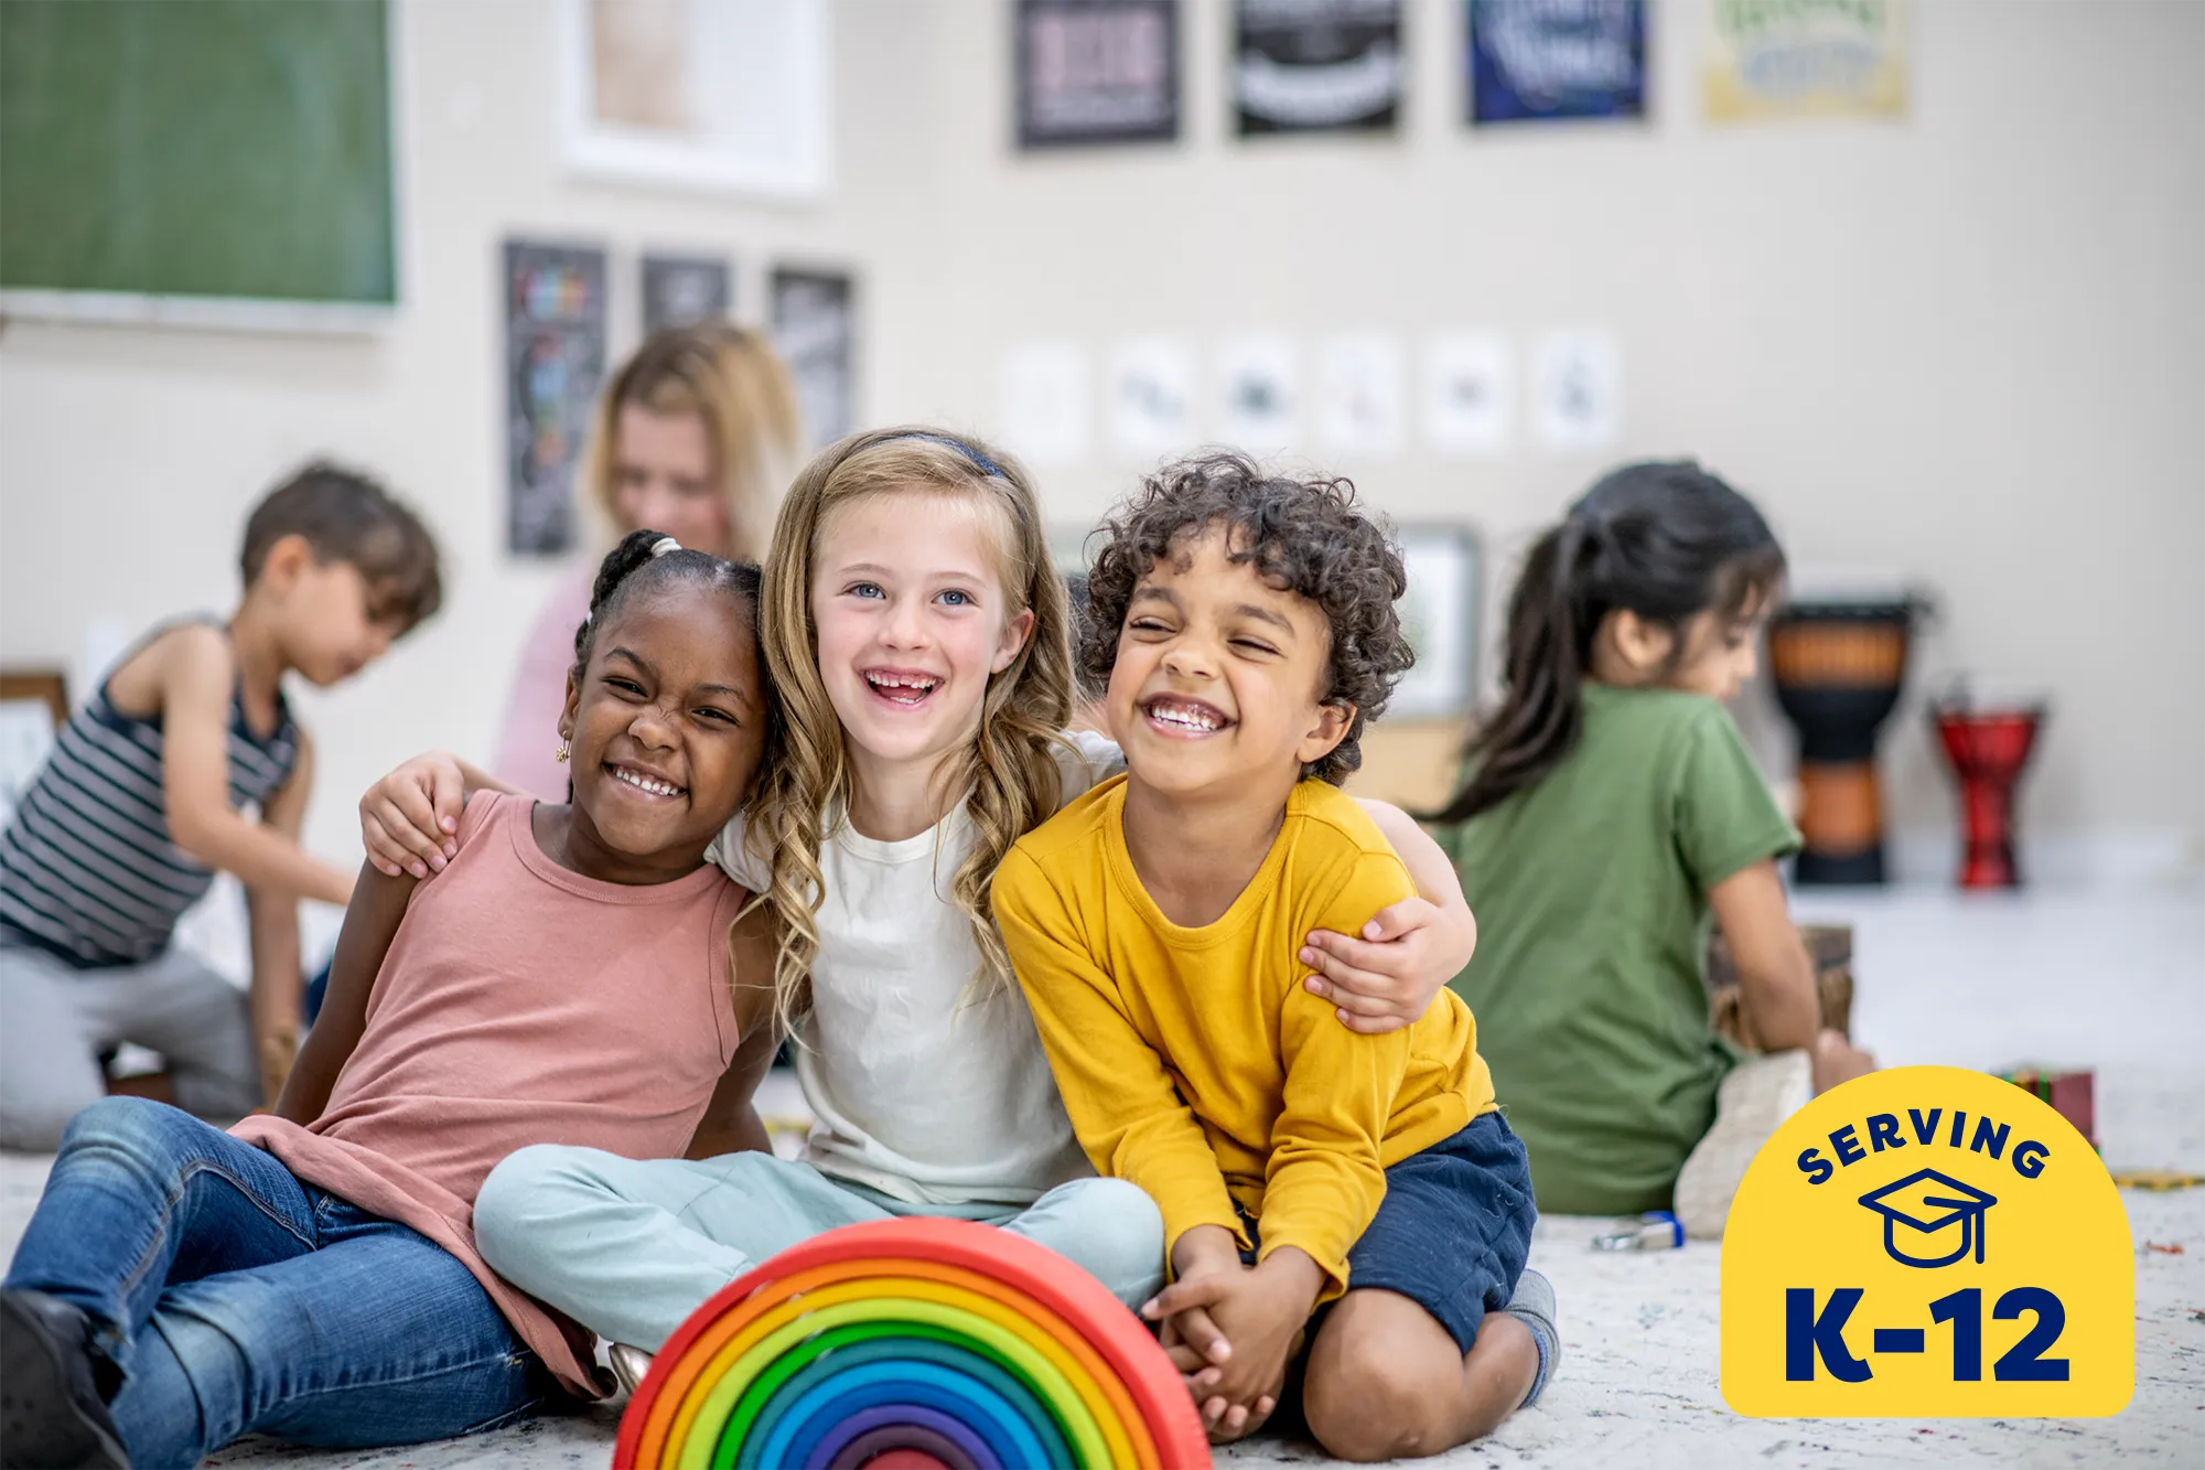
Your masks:
{"label": "smiling face of the curly-haired boy in yellow shirt", "polygon": [[1111,733],[1136,781],[1195,797],[1277,775],[1279,795],[1338,744],[1352,711],[1323,704],[1332,629],[1303,596],[1235,563],[1237,530],[1173,541],[1133,587],[1111,664]]}

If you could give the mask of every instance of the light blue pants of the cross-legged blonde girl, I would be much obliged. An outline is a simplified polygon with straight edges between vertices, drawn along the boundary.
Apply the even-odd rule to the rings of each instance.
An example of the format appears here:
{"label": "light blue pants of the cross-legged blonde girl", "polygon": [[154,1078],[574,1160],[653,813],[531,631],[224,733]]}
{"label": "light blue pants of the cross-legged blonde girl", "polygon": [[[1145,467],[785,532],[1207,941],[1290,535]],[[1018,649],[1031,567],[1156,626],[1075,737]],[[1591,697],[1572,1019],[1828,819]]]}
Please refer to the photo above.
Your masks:
{"label": "light blue pants of the cross-legged blonde girl", "polygon": [[536,1143],[474,1199],[474,1243],[529,1296],[655,1353],[706,1298],[838,1225],[891,1216],[1001,1225],[1096,1276],[1127,1307],[1164,1285],[1164,1216],[1122,1179],[1076,1179],[1019,1210],[913,1205],[772,1154],[622,1159]]}

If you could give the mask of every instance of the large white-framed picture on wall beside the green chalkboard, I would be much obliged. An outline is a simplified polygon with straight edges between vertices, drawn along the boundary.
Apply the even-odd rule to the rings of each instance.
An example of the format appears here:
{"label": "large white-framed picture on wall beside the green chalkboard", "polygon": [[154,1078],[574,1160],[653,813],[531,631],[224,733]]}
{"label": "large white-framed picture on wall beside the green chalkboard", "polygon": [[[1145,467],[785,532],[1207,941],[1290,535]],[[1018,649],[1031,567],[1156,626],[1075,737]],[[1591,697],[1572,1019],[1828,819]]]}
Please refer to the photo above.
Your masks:
{"label": "large white-framed picture on wall beside the green chalkboard", "polygon": [[829,22],[827,0],[558,0],[567,166],[613,183],[825,194]]}

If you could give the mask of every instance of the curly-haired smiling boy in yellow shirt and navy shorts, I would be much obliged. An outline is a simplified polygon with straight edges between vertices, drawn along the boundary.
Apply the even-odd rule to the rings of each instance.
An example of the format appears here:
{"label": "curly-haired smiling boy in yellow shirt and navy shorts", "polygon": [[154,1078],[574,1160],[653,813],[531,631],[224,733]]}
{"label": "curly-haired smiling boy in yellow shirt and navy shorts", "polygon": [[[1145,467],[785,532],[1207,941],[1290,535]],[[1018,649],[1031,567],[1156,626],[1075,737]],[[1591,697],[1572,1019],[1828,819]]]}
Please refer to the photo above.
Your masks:
{"label": "curly-haired smiling boy in yellow shirt and navy shorts", "polygon": [[1144,1311],[1213,1437],[1305,1346],[1327,1452],[1435,1455],[1559,1357],[1524,1146],[1460,998],[1358,1035],[1272,958],[1416,892],[1338,790],[1411,660],[1400,556],[1345,481],[1237,455],[1166,468],[1105,534],[1078,660],[1127,775],[1012,848],[997,923],[1087,1157],[1164,1212]]}

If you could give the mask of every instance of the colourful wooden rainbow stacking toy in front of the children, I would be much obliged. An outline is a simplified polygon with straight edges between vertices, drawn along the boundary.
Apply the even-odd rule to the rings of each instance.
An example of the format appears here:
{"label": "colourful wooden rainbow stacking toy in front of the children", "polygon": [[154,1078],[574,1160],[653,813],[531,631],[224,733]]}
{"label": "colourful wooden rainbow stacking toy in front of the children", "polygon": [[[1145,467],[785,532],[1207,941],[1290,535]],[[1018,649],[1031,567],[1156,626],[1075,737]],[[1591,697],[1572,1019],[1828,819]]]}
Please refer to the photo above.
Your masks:
{"label": "colourful wooden rainbow stacking toy in front of the children", "polygon": [[681,1324],[613,1470],[1193,1470],[1171,1360],[1063,1256],[966,1221],[849,1225]]}

